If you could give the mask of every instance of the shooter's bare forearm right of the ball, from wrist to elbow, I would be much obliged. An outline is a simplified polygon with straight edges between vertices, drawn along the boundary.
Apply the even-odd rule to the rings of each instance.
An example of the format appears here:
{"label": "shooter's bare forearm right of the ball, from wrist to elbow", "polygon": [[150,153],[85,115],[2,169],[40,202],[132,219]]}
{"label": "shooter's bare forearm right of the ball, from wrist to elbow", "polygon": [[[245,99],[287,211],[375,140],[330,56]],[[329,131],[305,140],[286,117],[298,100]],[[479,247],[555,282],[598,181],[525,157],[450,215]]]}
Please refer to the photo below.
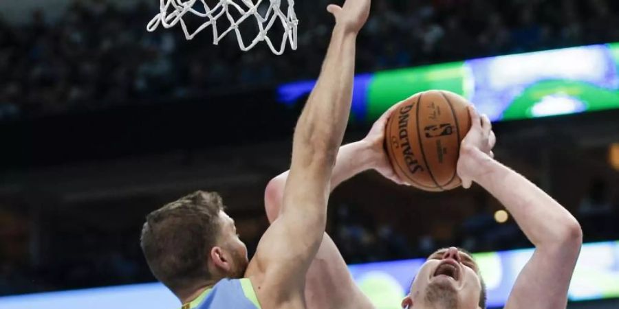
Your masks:
{"label": "shooter's bare forearm right of the ball, from wrist to elbow", "polygon": [[582,242],[578,221],[554,198],[543,192],[524,176],[481,154],[480,176],[473,179],[495,196],[536,246]]}

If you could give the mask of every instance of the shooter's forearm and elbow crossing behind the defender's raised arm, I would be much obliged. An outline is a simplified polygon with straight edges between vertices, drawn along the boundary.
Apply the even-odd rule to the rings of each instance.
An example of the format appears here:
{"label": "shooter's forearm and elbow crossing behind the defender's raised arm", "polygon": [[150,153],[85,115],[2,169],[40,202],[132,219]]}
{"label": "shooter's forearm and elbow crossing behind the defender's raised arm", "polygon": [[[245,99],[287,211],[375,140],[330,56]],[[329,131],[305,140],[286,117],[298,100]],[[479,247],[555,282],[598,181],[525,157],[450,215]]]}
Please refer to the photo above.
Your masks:
{"label": "shooter's forearm and elbow crossing behind the defender's raised arm", "polygon": [[[369,170],[372,155],[365,141],[356,141],[340,147],[332,172],[330,191],[356,174]],[[273,222],[279,215],[288,173],[289,171],[283,172],[271,179],[265,189],[264,207],[269,222]]]}

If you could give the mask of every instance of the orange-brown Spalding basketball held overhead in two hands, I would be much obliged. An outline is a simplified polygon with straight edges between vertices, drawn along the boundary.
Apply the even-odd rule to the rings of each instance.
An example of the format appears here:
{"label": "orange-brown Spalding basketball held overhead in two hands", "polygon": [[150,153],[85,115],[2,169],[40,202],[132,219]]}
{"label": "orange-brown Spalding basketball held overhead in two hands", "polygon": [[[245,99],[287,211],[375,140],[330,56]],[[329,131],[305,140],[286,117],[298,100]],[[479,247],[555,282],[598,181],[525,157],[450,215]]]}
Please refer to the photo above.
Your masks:
{"label": "orange-brown Spalding basketball held overhead in two hands", "polygon": [[456,173],[460,142],[470,129],[465,98],[449,91],[424,91],[393,110],[385,147],[400,179],[421,190],[459,187]]}

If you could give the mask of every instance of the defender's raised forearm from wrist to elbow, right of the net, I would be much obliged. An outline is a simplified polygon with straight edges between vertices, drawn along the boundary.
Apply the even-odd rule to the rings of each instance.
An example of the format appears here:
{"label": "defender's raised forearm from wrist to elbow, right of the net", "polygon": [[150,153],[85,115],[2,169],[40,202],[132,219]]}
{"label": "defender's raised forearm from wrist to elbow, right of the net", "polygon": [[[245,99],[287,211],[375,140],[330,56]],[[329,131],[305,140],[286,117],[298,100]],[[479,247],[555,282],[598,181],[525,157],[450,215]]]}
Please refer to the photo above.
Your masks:
{"label": "defender's raised forearm from wrist to elbow, right of the net", "polygon": [[[332,168],[347,125],[355,65],[356,33],[336,25],[321,76],[310,94],[294,134],[293,153]],[[295,162],[292,164],[294,165]]]}

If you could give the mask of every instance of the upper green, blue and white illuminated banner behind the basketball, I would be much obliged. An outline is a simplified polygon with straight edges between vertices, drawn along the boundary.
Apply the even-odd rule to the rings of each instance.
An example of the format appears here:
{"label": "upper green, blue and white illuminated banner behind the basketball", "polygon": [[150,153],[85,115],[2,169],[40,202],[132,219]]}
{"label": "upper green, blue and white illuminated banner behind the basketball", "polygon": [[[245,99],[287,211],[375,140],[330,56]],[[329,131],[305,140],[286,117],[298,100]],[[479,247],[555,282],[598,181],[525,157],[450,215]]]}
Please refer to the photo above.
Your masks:
{"label": "upper green, blue and white illuminated banner behind the basketball", "polygon": [[[279,100],[295,104],[314,84],[285,84]],[[393,104],[430,89],[463,95],[492,121],[619,108],[619,43],[358,75],[352,115],[372,122]]]}

